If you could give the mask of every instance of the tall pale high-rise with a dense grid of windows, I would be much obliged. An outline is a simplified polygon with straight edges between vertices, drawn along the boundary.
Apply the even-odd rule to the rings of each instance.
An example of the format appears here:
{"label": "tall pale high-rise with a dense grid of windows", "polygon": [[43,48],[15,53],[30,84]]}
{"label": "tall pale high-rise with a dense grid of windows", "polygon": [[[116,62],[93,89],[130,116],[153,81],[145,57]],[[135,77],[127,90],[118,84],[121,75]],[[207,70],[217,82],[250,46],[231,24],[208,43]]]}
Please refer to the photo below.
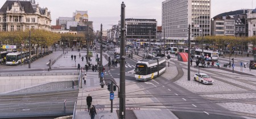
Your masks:
{"label": "tall pale high-rise with a dense grid of windows", "polygon": [[210,3],[210,0],[162,2],[162,30],[167,42],[187,42],[188,24],[191,24],[192,40],[201,36],[202,29],[204,36],[210,35]]}

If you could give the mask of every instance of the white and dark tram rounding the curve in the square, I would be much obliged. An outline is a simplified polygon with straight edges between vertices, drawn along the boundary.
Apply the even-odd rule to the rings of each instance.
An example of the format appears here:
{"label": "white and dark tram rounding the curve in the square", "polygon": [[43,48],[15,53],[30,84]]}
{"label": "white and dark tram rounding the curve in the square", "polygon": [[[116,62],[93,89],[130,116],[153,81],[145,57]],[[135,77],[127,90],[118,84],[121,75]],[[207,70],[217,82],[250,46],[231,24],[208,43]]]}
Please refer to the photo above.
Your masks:
{"label": "white and dark tram rounding the curve in the square", "polygon": [[154,57],[138,61],[135,68],[135,79],[146,81],[154,79],[166,71],[166,58]]}

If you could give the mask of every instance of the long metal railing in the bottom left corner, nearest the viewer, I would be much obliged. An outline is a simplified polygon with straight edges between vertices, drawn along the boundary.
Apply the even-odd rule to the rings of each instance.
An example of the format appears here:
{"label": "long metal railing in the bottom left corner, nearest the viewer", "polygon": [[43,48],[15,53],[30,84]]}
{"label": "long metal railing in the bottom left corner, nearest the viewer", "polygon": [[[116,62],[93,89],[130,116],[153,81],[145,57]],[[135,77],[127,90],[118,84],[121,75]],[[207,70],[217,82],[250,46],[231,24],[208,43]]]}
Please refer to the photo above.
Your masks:
{"label": "long metal railing in the bottom left corner, nearest the viewer", "polygon": [[0,104],[0,118],[52,117],[73,114],[75,101]]}

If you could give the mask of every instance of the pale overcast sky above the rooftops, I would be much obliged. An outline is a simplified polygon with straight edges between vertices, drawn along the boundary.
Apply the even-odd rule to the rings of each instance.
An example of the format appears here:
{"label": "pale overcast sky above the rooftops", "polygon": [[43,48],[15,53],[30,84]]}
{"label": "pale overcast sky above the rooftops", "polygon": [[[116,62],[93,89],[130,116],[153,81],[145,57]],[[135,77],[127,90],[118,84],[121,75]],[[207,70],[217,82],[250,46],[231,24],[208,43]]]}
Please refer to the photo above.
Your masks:
{"label": "pale overcast sky above the rooftops", "polygon": [[[23,0],[20,0],[23,1]],[[25,1],[25,0],[24,0]],[[27,0],[28,1],[28,0]],[[89,20],[93,21],[94,30],[111,28],[118,24],[121,14],[121,0],[35,0],[40,7],[51,11],[52,25],[56,25],[59,16],[71,17],[76,10],[88,11]],[[123,0],[126,4],[126,18],[156,19],[162,25],[162,2],[164,0]],[[6,0],[0,0],[2,6]],[[222,12],[241,8],[255,8],[253,0],[212,0],[212,16]]]}

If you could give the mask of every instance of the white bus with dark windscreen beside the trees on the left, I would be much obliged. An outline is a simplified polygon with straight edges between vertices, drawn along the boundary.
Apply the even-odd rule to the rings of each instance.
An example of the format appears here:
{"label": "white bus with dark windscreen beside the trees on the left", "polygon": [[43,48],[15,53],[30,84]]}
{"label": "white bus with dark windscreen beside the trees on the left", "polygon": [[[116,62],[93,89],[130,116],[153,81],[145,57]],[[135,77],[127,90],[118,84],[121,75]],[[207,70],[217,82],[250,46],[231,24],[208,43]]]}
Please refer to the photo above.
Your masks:
{"label": "white bus with dark windscreen beside the trees on the left", "polygon": [[6,65],[18,65],[28,57],[29,57],[29,53],[26,53],[26,52],[8,53],[6,55]]}

